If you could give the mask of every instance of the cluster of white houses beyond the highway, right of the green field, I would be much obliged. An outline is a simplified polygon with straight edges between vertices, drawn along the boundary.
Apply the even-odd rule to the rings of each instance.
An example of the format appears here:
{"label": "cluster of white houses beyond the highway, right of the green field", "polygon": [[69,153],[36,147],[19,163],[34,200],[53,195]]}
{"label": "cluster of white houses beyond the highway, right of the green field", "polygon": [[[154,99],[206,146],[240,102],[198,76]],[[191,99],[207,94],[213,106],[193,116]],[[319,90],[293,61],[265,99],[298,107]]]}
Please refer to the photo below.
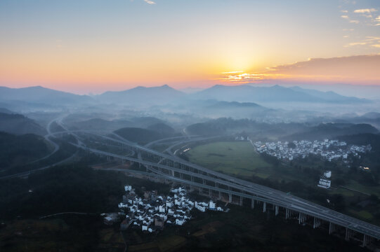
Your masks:
{"label": "cluster of white houses beyond the highway, right of the green field", "polygon": [[371,146],[348,145],[344,141],[329,140],[324,141],[284,141],[277,142],[254,142],[254,146],[259,153],[266,153],[278,159],[293,160],[294,158],[306,158],[309,154],[321,155],[326,160],[332,161],[336,158],[347,160],[348,155],[358,156],[360,153],[371,151]]}

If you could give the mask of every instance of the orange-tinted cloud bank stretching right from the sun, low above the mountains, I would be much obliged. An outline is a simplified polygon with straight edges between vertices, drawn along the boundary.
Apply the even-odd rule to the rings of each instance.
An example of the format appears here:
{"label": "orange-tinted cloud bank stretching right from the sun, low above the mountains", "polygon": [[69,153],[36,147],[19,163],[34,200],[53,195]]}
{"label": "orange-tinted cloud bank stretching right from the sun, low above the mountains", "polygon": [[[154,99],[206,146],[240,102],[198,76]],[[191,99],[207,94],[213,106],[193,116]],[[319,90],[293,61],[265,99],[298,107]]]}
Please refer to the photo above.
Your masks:
{"label": "orange-tinted cloud bank stretching right from the sun, low above the mountains", "polygon": [[359,55],[273,66],[262,73],[225,73],[219,80],[229,83],[294,80],[328,83],[380,84],[380,55]]}

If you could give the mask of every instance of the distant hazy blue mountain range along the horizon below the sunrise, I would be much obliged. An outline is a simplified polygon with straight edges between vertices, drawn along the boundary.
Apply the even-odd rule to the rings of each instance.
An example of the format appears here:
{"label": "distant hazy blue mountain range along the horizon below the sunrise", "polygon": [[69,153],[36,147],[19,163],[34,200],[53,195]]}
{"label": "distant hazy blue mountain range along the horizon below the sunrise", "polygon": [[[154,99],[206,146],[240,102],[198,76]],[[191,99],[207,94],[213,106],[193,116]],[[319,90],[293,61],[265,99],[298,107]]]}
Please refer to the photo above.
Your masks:
{"label": "distant hazy blue mountain range along the horizon below the sunrise", "polygon": [[[163,105],[181,104],[185,100],[194,102],[214,99],[223,102],[240,102],[228,106],[252,106],[244,103],[328,103],[328,104],[365,104],[370,101],[356,97],[345,97],[335,92],[322,92],[302,87],[254,87],[251,85],[214,85],[205,90],[186,94],[179,90],[162,85],[159,87],[134,87],[124,91],[109,91],[95,96],[78,95],[70,92],[52,90],[45,87],[9,88],[0,87],[0,106],[11,110],[23,107],[60,107],[84,104],[128,104],[128,105]],[[223,106],[223,104],[220,104]]]}

